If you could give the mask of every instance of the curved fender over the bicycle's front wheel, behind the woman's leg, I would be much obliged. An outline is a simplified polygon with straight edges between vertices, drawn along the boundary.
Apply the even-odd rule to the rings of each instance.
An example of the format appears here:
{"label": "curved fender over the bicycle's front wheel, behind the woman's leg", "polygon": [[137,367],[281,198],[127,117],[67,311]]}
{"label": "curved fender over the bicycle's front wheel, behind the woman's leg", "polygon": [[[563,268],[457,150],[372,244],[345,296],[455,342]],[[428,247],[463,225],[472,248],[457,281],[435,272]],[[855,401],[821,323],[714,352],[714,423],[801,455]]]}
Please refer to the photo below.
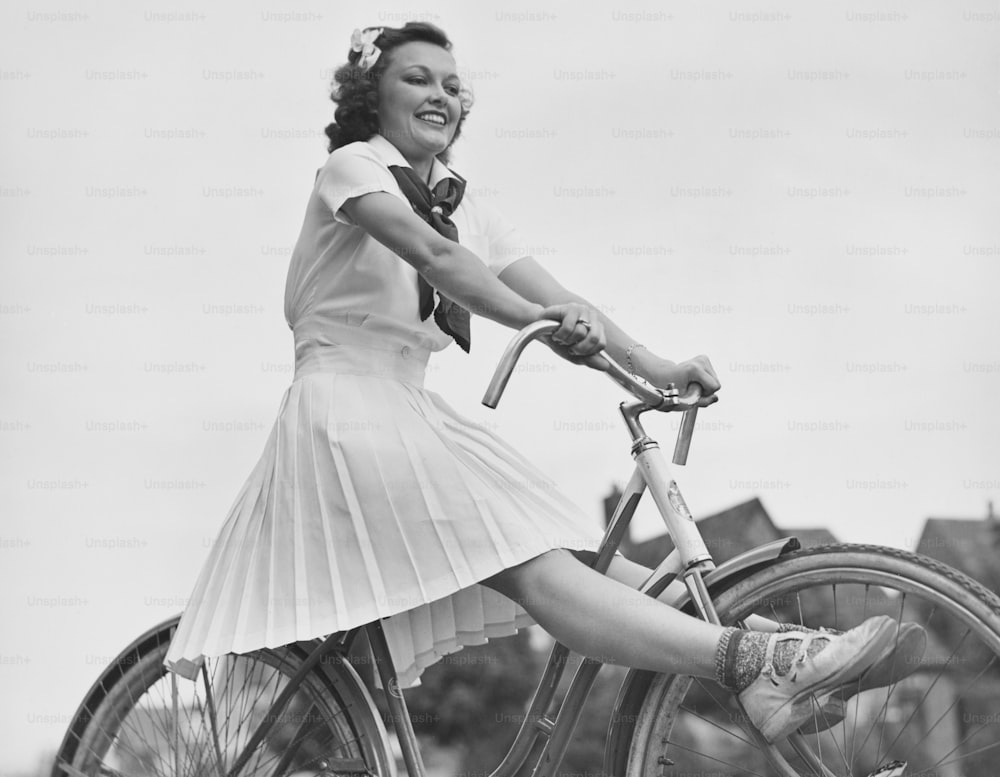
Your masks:
{"label": "curved fender over the bicycle's front wheel, behind the woman's leg", "polygon": [[[705,585],[709,592],[712,592],[713,589],[725,588],[734,578],[773,564],[781,556],[798,550],[799,547],[799,541],[795,537],[786,537],[759,545],[713,569],[705,575]],[[655,586],[654,583],[654,588]],[[687,589],[684,589],[669,604],[679,610],[686,610],[691,604],[691,596]],[[604,748],[604,774],[607,777],[622,777],[625,774],[639,710],[646,698],[649,684],[655,676],[656,672],[631,669],[622,682],[618,698],[615,699],[614,707],[611,710],[608,737]]]}

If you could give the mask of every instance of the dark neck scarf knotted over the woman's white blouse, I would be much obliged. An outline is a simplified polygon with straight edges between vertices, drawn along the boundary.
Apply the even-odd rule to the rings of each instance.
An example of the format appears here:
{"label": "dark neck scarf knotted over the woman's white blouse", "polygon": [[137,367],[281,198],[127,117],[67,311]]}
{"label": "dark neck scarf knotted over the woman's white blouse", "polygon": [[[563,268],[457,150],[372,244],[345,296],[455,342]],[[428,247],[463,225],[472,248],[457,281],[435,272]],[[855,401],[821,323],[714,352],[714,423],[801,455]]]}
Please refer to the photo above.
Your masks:
{"label": "dark neck scarf knotted over the woman's white blouse", "polygon": [[[441,235],[457,243],[458,228],[450,217],[462,201],[462,195],[465,194],[465,179],[442,178],[432,190],[412,167],[389,165],[389,172],[403,190],[406,199],[410,201],[414,212]],[[434,321],[438,327],[451,335],[459,347],[468,353],[471,347],[469,311],[448,299],[440,291],[437,292],[438,305],[435,308],[435,289],[422,275],[417,277],[420,291],[420,320],[426,321],[433,311]]]}

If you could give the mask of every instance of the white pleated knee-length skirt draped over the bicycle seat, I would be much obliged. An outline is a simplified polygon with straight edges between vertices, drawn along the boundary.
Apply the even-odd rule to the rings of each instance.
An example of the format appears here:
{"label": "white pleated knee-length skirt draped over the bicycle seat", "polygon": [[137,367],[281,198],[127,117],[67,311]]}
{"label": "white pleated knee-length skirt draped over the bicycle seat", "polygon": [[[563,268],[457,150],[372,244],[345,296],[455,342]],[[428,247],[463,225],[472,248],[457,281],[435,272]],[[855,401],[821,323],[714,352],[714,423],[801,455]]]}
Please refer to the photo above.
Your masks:
{"label": "white pleated knee-length skirt draped over the bicycle seat", "polygon": [[403,687],[534,620],[478,581],[603,532],[520,454],[423,388],[429,352],[305,343],[264,452],[165,664],[379,618]]}

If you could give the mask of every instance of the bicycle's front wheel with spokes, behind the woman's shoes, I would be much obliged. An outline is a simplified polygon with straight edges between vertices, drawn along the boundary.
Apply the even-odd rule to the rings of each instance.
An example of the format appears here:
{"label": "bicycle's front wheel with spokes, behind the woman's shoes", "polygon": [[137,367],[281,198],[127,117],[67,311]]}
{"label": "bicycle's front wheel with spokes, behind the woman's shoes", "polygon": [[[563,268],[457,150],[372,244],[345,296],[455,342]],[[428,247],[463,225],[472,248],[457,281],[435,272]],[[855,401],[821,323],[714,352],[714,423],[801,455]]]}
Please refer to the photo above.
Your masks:
{"label": "bicycle's front wheel with spokes, behind the woman's shoes", "polygon": [[[844,629],[886,613],[921,623],[928,648],[909,677],[853,696],[843,722],[802,734],[800,744],[826,772],[789,742],[758,747],[733,695],[715,683],[656,675],[639,708],[627,777],[853,777],[897,760],[907,763],[906,775],[996,774],[1000,598],[979,583],[907,551],[826,545],[788,554],[712,593],[724,624],[758,614]],[[814,717],[822,717],[815,706]]]}

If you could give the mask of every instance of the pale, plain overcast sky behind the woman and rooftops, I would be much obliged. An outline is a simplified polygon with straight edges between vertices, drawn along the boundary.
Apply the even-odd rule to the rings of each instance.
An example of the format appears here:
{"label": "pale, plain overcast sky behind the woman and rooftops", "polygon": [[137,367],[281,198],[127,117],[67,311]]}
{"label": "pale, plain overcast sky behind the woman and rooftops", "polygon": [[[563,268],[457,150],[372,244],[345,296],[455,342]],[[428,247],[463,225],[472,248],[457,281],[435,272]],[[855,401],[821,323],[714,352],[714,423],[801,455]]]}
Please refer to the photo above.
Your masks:
{"label": "pale, plain overcast sky behind the woman and rooftops", "polygon": [[[264,445],[354,27],[443,26],[477,97],[455,169],[638,340],[712,357],[695,515],[759,495],[912,548],[1000,498],[995,3],[344,7],[4,8],[0,777],[183,607]],[[429,385],[598,521],[631,467],[617,390],[535,346],[482,408],[508,334],[480,321]],[[647,427],[669,450],[676,421]]]}

